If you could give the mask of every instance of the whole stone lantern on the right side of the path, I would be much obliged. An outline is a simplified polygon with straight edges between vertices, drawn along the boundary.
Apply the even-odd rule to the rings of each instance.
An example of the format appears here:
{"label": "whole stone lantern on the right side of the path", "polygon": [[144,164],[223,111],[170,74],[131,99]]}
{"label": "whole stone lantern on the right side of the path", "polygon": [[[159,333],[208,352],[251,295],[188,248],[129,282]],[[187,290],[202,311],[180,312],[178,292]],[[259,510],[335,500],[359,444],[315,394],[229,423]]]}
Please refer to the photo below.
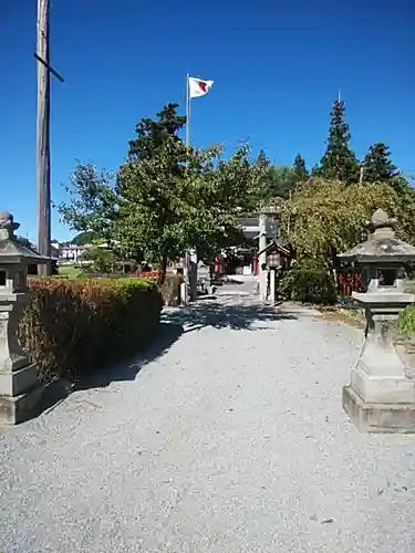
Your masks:
{"label": "whole stone lantern on the right side of the path", "polygon": [[361,431],[415,432],[415,380],[391,335],[400,312],[415,303],[403,289],[404,265],[415,260],[415,248],[396,238],[395,225],[377,209],[369,240],[339,255],[366,271],[366,292],[352,294],[365,310],[365,342],[343,388],[343,408]]}

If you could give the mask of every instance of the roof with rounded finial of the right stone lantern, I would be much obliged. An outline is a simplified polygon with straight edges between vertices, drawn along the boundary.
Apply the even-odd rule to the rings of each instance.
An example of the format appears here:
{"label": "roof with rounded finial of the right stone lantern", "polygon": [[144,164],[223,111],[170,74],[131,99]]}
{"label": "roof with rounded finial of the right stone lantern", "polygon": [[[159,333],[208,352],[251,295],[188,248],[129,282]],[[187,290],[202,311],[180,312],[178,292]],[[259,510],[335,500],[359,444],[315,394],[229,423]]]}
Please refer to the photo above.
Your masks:
{"label": "roof with rounded finial of the right stone lantern", "polygon": [[340,253],[342,261],[357,263],[402,262],[415,261],[415,247],[400,240],[395,236],[396,220],[390,219],[383,209],[377,209],[369,225],[372,233],[365,242],[351,250]]}

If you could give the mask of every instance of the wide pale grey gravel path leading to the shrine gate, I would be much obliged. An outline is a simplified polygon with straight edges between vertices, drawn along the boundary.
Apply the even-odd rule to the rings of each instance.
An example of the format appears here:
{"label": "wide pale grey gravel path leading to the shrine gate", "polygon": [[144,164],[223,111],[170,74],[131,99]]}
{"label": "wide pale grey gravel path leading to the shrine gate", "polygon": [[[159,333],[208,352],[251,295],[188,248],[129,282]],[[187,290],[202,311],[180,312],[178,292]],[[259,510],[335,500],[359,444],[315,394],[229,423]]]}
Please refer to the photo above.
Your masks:
{"label": "wide pale grey gravel path leading to the shrine gate", "polygon": [[414,438],[341,407],[359,331],[226,294],[166,321],[0,436],[1,552],[415,551]]}

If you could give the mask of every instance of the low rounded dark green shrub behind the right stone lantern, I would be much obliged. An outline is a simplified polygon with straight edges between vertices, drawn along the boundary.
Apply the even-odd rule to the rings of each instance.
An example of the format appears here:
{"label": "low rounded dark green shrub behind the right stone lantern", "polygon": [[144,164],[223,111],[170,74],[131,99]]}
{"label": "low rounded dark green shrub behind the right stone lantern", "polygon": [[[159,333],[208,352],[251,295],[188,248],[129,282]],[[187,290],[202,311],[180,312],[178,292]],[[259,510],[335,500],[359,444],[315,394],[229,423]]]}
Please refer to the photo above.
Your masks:
{"label": "low rounded dark green shrub behind the right stone lantern", "polygon": [[335,282],[323,268],[294,265],[279,282],[279,292],[300,303],[332,305],[338,299]]}

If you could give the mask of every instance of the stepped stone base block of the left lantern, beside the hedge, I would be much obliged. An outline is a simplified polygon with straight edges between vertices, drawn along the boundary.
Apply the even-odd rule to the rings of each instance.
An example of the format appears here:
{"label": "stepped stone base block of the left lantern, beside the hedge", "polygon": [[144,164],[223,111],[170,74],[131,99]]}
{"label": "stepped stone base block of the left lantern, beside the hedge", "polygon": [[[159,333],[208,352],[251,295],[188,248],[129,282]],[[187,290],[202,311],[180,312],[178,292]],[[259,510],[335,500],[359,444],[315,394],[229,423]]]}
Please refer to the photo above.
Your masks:
{"label": "stepped stone base block of the left lantern, beside the hedge", "polygon": [[33,363],[13,372],[0,371],[1,425],[18,425],[33,414],[44,392],[37,379],[37,368]]}

